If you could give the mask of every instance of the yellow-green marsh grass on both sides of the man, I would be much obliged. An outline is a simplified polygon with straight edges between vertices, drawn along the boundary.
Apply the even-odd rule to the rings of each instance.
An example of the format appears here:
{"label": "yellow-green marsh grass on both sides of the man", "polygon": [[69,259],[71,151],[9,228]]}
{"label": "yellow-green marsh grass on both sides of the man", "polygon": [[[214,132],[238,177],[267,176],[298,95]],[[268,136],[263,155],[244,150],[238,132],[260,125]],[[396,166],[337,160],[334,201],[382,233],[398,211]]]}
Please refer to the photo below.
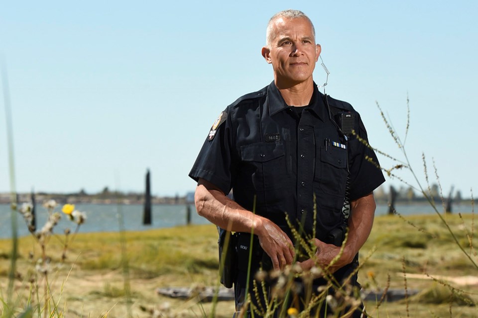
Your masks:
{"label": "yellow-green marsh grass on both sides of the man", "polygon": [[[447,215],[450,227],[456,229],[460,236],[463,227],[471,230],[472,215]],[[403,289],[404,280],[402,267],[407,273],[429,274],[431,276],[462,276],[476,275],[475,267],[470,264],[463,253],[456,248],[455,241],[450,238],[448,229],[441,223],[436,215],[410,216],[407,220],[417,229],[398,216],[380,216],[375,218],[375,223],[369,239],[360,251],[361,259],[376,247],[376,251],[364,263],[359,271],[359,282],[365,288],[390,288]],[[460,231],[461,230],[461,231]],[[476,232],[477,229],[475,229]],[[150,317],[148,312],[139,310],[141,306],[149,308],[160,307],[161,304],[173,304],[172,312],[183,311],[185,317],[201,317],[201,311],[195,302],[167,299],[155,294],[157,287],[182,286],[192,287],[198,285],[215,286],[218,279],[218,251],[217,231],[213,225],[178,227],[158,229],[142,232],[125,232],[127,243],[127,257],[131,274],[131,290],[133,298],[134,317]],[[463,236],[464,237],[464,236]],[[55,244],[55,239],[51,240]],[[101,243],[99,243],[101,242]],[[476,241],[475,241],[476,243]],[[52,263],[60,264],[61,244],[50,247]],[[464,246],[465,248],[467,246]],[[8,251],[11,248],[10,240],[0,240],[0,281],[5,281],[10,263]],[[33,260],[29,253],[33,251]],[[17,293],[26,297],[26,293],[18,292],[18,286],[24,286],[26,291],[26,277],[32,270],[34,260],[40,256],[34,241],[30,237],[18,240],[17,262]],[[405,261],[403,261],[405,259]],[[71,277],[66,279],[69,270]],[[390,276],[390,281],[388,281]],[[124,289],[121,274],[121,245],[118,233],[79,233],[70,246],[68,258],[56,274],[58,284],[66,279],[63,298],[70,310],[76,309],[82,303],[83,313],[91,313],[91,317],[98,317],[101,313],[110,310],[108,317],[124,317],[115,314],[120,312],[125,305]],[[91,281],[89,288],[75,285],[76,279],[84,278]],[[72,280],[69,282],[68,280]],[[95,281],[97,280],[97,281]],[[452,284],[453,285],[453,284]],[[438,287],[437,287],[438,286]],[[68,288],[67,288],[68,287]],[[450,317],[450,308],[461,317],[478,316],[477,308],[467,306],[466,301],[459,301],[456,295],[452,298],[448,288],[437,284],[432,279],[407,279],[408,290],[418,289],[423,291],[420,298],[410,297],[409,310],[412,317],[422,313],[427,317]],[[448,290],[443,291],[443,288]],[[2,283],[3,295],[5,286]],[[456,286],[465,291],[473,291],[472,287]],[[74,289],[73,293],[70,289]],[[445,296],[444,296],[445,295]],[[448,296],[446,296],[448,295]],[[477,296],[471,294],[476,301]],[[23,299],[23,302],[26,302]],[[450,307],[450,303],[452,306]],[[89,307],[90,304],[93,307]],[[210,304],[204,304],[208,313]],[[368,311],[373,315],[376,302],[367,304]],[[404,317],[405,304],[383,303],[374,317]],[[62,307],[62,306],[60,306]],[[216,309],[216,317],[231,317],[234,311],[234,302],[220,302]],[[377,315],[377,313],[379,315]],[[118,316],[115,316],[118,315]],[[196,316],[195,316],[196,315]],[[199,316],[197,316],[199,315]],[[467,316],[468,315],[468,316]]]}

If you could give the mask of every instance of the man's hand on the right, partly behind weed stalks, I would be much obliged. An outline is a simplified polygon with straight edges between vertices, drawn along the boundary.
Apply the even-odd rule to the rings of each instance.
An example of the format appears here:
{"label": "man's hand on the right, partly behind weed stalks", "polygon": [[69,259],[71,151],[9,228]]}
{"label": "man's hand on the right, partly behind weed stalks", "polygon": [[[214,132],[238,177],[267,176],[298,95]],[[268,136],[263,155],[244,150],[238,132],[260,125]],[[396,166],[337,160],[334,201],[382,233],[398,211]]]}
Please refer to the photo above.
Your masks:
{"label": "man's hand on the right, partly behind weed stalks", "polygon": [[[335,246],[333,244],[327,244],[319,239],[314,239],[313,243],[317,246],[315,255],[303,262],[297,262],[303,270],[310,270],[313,266],[320,268],[327,268],[331,265],[331,262],[340,254],[341,246]],[[342,252],[340,258],[334,261],[334,263],[328,267],[330,273],[335,272],[339,268],[349,264],[353,260],[350,258],[346,250]]]}

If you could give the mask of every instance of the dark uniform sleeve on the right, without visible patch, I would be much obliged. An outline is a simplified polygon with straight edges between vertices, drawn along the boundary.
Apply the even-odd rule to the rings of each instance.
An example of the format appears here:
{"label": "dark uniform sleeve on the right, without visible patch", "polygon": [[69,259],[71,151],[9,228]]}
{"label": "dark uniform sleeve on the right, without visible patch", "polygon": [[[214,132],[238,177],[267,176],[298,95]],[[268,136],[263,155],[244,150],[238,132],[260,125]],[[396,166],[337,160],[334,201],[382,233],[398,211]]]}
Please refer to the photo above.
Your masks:
{"label": "dark uniform sleeve on the right, without visible patch", "polygon": [[[368,144],[367,132],[360,115],[356,127],[359,137]],[[375,190],[385,181],[375,152],[353,136],[349,142],[350,147],[350,199],[357,200]],[[372,162],[370,162],[370,160]]]}

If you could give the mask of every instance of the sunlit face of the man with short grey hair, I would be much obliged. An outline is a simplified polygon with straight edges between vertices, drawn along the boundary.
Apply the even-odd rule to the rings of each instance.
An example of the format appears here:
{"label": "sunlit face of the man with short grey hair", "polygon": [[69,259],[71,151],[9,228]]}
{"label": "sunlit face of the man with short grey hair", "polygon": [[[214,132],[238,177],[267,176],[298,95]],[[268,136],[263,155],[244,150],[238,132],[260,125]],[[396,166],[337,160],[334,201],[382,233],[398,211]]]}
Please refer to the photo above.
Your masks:
{"label": "sunlit face of the man with short grey hair", "polygon": [[315,44],[310,22],[279,17],[272,23],[271,41],[262,48],[262,56],[272,64],[276,84],[290,87],[312,80],[320,45]]}

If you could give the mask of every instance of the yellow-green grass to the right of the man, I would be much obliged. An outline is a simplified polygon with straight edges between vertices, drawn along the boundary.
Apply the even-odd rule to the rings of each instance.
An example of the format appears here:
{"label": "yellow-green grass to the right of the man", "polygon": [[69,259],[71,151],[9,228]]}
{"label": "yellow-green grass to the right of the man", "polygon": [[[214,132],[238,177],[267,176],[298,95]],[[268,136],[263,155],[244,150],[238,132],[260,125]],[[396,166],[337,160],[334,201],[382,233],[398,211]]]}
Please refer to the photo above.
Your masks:
{"label": "yellow-green grass to the right of the man", "polygon": [[[463,220],[459,215],[446,215],[446,218],[447,223],[456,230],[455,233],[458,236],[463,235],[464,226],[470,231],[471,225],[474,223],[472,214],[463,215]],[[447,227],[436,215],[409,216],[406,219],[415,227],[419,227],[421,231],[417,231],[415,227],[403,222],[397,216],[375,218],[372,233],[360,251],[360,254],[365,254],[372,247],[377,247],[377,250],[359,272],[359,282],[363,286],[378,286],[383,290],[389,285],[390,288],[403,290],[403,257],[407,273],[428,274],[432,277],[477,275],[475,266],[457,248]],[[410,246],[412,245],[410,242],[413,242],[415,246]],[[476,243],[477,241],[474,239],[475,246]],[[370,279],[371,273],[373,273],[374,282]],[[389,283],[387,283],[388,275],[390,275]],[[426,317],[477,317],[477,307],[469,306],[470,300],[475,302],[478,300],[475,292],[476,286],[451,285],[470,294],[462,293],[458,297],[451,293],[450,288],[436,283],[432,279],[408,278],[408,290],[421,291],[419,295],[409,299],[408,307],[412,313],[411,317],[419,315]],[[368,311],[374,313],[370,308],[374,308],[376,303],[368,302],[367,305]],[[405,306],[404,302],[384,303],[378,312],[381,314],[375,313],[375,316],[406,317]]]}

